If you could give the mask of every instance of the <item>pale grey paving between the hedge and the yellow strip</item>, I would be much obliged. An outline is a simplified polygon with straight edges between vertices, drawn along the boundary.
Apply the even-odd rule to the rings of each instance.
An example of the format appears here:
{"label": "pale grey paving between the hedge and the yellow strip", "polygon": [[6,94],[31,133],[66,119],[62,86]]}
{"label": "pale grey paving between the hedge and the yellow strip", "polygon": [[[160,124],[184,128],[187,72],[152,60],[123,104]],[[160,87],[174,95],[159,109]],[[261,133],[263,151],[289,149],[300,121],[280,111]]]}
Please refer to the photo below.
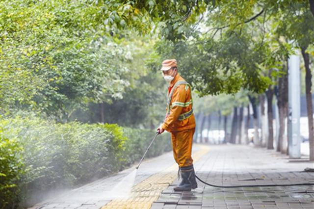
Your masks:
{"label": "pale grey paving between the hedge and the yellow strip", "polygon": [[[169,152],[159,157],[145,159],[141,164],[141,168],[137,171],[134,185],[173,165],[174,161],[169,160],[172,158],[172,153]],[[46,200],[29,209],[100,209],[112,200],[110,197],[111,189],[130,174],[135,166],[76,189],[62,193],[54,192]]]}

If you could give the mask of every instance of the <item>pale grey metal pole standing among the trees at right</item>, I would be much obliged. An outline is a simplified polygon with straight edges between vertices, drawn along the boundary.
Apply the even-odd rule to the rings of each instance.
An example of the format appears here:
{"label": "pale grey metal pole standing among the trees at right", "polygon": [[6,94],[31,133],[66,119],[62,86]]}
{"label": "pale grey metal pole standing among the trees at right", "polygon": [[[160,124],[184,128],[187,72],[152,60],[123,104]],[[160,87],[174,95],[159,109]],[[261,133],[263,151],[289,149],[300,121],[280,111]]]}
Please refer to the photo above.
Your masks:
{"label": "pale grey metal pole standing among the trees at right", "polygon": [[288,104],[289,157],[300,158],[300,56],[298,53],[288,59]]}

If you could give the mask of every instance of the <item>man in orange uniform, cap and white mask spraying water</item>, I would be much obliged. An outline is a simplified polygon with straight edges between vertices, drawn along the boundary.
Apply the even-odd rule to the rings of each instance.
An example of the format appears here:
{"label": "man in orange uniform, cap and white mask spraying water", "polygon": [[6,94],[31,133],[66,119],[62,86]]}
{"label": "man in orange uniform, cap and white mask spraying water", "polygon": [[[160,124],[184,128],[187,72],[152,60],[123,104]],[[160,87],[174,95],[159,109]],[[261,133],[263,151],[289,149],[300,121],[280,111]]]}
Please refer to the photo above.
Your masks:
{"label": "man in orange uniform, cap and white mask spraying water", "polygon": [[190,191],[197,188],[193,159],[191,157],[195,117],[192,109],[190,85],[179,75],[177,60],[166,59],[160,69],[163,78],[169,82],[167,113],[163,124],[157,131],[171,132],[173,156],[179,165],[182,182],[175,191]]}

